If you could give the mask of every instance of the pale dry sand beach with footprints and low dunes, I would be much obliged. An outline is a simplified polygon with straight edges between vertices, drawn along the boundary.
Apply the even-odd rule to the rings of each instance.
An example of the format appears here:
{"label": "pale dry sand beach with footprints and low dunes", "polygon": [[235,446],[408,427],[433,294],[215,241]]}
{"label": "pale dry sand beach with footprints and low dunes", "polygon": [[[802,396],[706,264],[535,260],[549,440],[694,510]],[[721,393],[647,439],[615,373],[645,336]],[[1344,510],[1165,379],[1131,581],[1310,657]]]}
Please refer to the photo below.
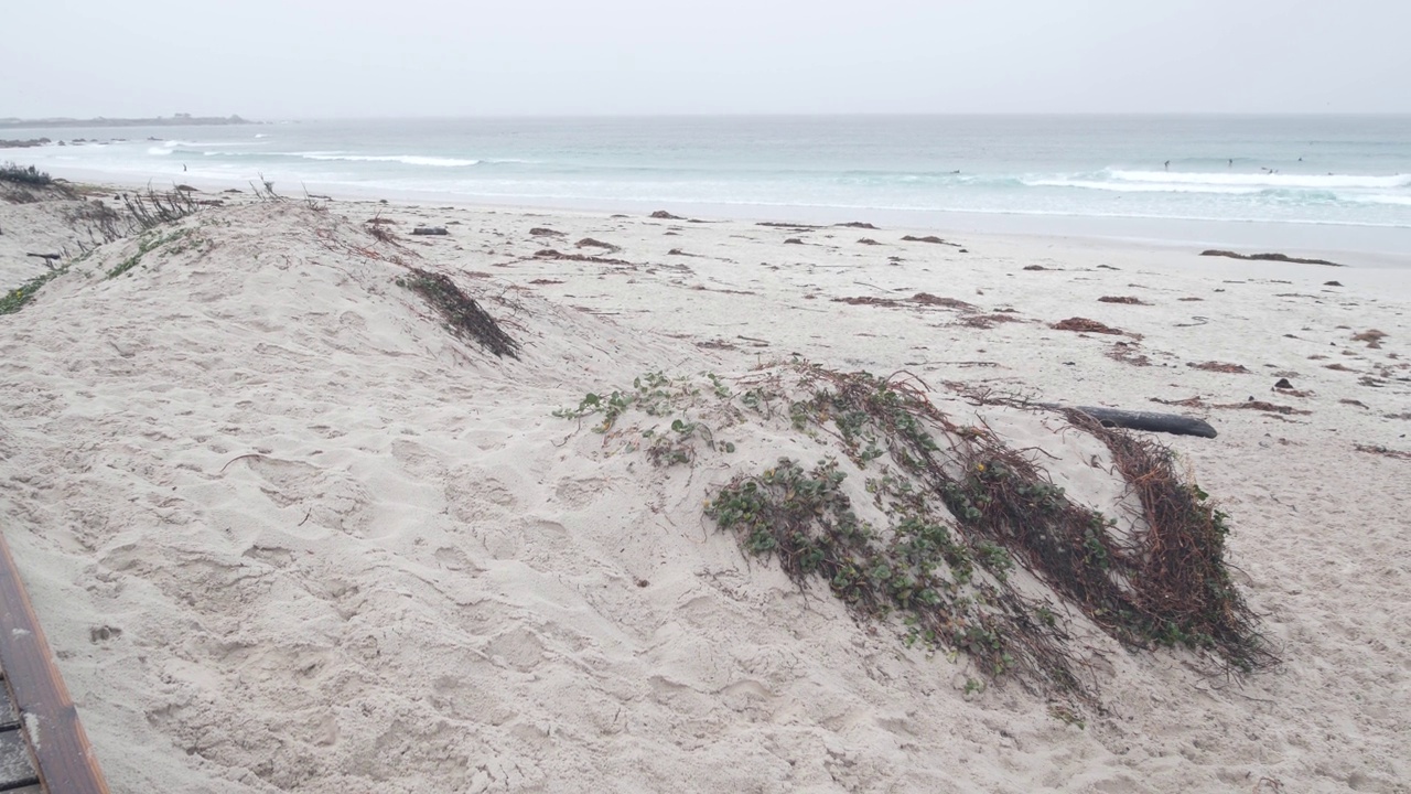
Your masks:
{"label": "pale dry sand beach with footprints and low dunes", "polygon": [[[220,198],[0,316],[0,530],[114,791],[1411,791],[1411,257]],[[80,205],[0,203],[0,288]],[[563,415],[796,357],[904,372],[1112,514],[1101,445],[962,391],[1208,420],[1160,439],[1280,664],[1079,616],[1095,704],[989,682],[704,516],[828,434],[780,408],[655,465],[672,415]]]}

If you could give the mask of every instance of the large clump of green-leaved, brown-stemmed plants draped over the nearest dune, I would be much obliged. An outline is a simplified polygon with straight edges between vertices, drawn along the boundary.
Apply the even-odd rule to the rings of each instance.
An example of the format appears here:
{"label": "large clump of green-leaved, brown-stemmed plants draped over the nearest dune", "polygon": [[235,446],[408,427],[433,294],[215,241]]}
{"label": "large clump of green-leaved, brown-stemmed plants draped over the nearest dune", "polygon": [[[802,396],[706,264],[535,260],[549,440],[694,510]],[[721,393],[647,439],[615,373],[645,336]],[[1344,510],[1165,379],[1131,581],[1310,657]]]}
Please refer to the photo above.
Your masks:
{"label": "large clump of green-leaved, brown-stemmed plants draped over the nearest dune", "polygon": [[1070,609],[1132,647],[1184,646],[1240,672],[1276,661],[1230,579],[1226,516],[1168,446],[1067,413],[1108,446],[1140,503],[1144,521],[1123,534],[1030,454],[954,422],[913,379],[799,366],[814,391],[790,407],[794,427],[834,435],[862,468],[892,462],[868,480],[889,526],[858,520],[835,466],[787,459],[737,476],[707,513],[800,586],[821,576],[856,613],[900,615],[910,639],[964,651],[989,677],[1082,698],[1098,687],[1055,617]]}

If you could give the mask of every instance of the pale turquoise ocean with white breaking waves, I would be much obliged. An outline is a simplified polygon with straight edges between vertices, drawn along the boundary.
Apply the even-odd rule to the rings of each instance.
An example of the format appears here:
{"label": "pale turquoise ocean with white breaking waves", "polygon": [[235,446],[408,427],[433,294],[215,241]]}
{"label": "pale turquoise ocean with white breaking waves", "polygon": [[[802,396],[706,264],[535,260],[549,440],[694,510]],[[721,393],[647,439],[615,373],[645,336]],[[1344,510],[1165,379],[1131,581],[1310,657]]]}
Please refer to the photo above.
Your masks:
{"label": "pale turquoise ocean with white breaking waves", "polygon": [[[841,116],[11,130],[55,175],[1411,253],[1407,116]],[[126,138],[126,140],[117,140]],[[1254,230],[1260,230],[1254,233]]]}

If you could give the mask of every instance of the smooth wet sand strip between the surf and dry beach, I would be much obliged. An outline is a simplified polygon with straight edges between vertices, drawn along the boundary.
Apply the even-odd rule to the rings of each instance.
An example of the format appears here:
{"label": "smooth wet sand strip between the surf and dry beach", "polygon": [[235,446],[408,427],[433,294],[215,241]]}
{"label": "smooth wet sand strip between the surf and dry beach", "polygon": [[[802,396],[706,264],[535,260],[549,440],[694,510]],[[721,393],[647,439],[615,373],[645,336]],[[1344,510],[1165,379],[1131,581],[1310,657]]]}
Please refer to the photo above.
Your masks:
{"label": "smooth wet sand strip between the surf and dry beach", "polygon": [[[168,186],[176,189],[179,175],[137,177],[121,172],[83,170],[56,170],[56,181],[78,182],[99,188],[102,192],[144,191],[154,182],[161,184],[171,177]],[[251,177],[251,181],[255,177]],[[196,188],[198,194],[219,198],[231,186],[246,192],[251,181],[206,179],[200,177],[181,179],[181,184]],[[295,186],[298,185],[298,186]],[[1230,260],[1223,257],[1199,257],[1201,250],[1212,247],[1237,249],[1249,253],[1267,250],[1292,253],[1300,257],[1326,257],[1342,263],[1349,271],[1356,271],[1357,281],[1371,295],[1394,297],[1411,301],[1411,256],[1404,251],[1407,236],[1403,229],[1380,230],[1348,227],[1348,235],[1338,227],[1311,226],[1278,222],[1201,222],[1180,219],[1141,218],[1082,218],[1082,216],[1036,216],[1036,215],[993,215],[967,212],[907,213],[868,208],[807,208],[807,206],[756,206],[720,205],[693,202],[634,202],[634,201],[532,201],[525,198],[502,199],[491,196],[466,196],[446,192],[394,191],[380,186],[358,186],[336,182],[295,184],[275,181],[278,192],[298,201],[301,195],[327,198],[340,208],[367,205],[373,212],[380,206],[436,211],[436,212],[488,212],[523,218],[608,218],[618,215],[649,215],[666,209],[670,213],[696,218],[708,223],[761,222],[775,225],[797,225],[800,227],[847,226],[851,222],[871,222],[897,233],[917,236],[935,235],[967,237],[971,243],[992,246],[1019,246],[1022,259],[1041,261],[1040,251],[1082,250],[1094,257],[1127,257],[1140,261],[1165,261],[1182,273],[1205,273],[1211,278],[1291,278],[1304,275],[1332,278],[1326,266],[1298,264],[1260,260]],[[161,186],[158,191],[164,189]],[[567,223],[567,220],[563,220]],[[1394,236],[1377,236],[1366,243],[1369,232],[1394,232]],[[790,253],[794,250],[790,246]],[[1094,261],[1098,261],[1096,259]],[[1346,274],[1346,271],[1345,271]],[[1338,275],[1343,281],[1343,275]],[[1350,285],[1350,283],[1349,283]]]}

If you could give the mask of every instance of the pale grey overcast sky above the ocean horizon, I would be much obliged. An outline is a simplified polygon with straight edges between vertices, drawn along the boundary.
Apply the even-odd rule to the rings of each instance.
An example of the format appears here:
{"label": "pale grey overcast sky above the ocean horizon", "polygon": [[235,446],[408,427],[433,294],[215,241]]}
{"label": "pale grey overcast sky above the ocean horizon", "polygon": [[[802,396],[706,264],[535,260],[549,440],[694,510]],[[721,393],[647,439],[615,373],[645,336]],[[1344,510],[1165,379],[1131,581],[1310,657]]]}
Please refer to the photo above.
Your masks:
{"label": "pale grey overcast sky above the ocean horizon", "polygon": [[1411,0],[3,0],[0,117],[1411,113]]}

